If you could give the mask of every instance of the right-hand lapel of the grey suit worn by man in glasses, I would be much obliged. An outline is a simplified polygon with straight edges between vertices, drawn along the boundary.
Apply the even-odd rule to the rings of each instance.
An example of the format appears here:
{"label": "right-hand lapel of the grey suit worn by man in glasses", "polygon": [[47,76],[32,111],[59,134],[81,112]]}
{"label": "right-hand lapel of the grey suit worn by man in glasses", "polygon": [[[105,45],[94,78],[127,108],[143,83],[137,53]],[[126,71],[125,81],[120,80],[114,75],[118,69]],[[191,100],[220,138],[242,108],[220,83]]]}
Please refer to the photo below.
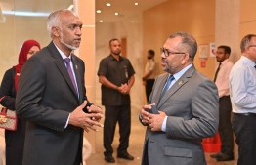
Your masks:
{"label": "right-hand lapel of the grey suit worn by man in glasses", "polygon": [[[175,94],[183,85],[185,85],[190,78],[192,77],[192,73],[195,71],[194,66],[192,65],[182,76],[179,78],[173,86],[165,93],[162,97],[161,101],[157,103],[157,108],[159,109],[173,94]],[[166,78],[165,78],[166,79]],[[160,96],[160,95],[159,95]],[[159,96],[157,98],[159,99]]]}

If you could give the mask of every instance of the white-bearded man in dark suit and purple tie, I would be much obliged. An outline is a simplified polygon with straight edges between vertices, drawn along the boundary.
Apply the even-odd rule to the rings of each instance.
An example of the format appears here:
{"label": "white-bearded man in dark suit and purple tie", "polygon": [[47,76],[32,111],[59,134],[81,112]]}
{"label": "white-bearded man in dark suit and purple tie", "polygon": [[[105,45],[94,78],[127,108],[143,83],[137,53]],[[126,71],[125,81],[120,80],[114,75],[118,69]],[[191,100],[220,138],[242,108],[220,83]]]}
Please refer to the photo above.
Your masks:
{"label": "white-bearded man in dark suit and purple tie", "polygon": [[24,64],[19,81],[17,115],[27,120],[23,164],[79,165],[83,129],[103,127],[102,110],[86,97],[84,62],[71,53],[80,45],[82,22],[59,10],[47,27],[53,41]]}

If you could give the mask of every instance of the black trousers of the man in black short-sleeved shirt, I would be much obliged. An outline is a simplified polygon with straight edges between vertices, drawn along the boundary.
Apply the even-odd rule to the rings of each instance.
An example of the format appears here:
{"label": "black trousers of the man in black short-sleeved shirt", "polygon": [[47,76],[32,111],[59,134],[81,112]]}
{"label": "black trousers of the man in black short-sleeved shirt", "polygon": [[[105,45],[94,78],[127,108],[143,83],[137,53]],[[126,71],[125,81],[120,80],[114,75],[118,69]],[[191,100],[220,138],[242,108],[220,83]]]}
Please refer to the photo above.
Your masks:
{"label": "black trousers of the man in black short-sleeved shirt", "polygon": [[105,121],[104,121],[104,147],[106,151],[105,156],[112,155],[113,148],[111,146],[114,138],[115,126],[119,124],[119,146],[117,148],[118,154],[127,152],[129,146],[129,137],[131,132],[131,105],[120,106],[105,106]]}

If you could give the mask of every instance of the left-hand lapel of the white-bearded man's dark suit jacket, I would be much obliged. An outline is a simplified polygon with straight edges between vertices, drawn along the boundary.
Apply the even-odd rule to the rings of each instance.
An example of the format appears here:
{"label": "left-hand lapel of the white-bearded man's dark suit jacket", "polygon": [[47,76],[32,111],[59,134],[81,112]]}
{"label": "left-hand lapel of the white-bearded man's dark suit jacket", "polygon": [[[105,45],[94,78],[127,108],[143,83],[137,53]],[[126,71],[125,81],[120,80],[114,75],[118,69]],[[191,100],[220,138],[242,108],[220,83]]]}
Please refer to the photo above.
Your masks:
{"label": "left-hand lapel of the white-bearded man's dark suit jacket", "polygon": [[53,42],[51,42],[48,45],[48,50],[50,51],[52,57],[55,59],[55,64],[56,64],[57,68],[60,70],[60,72],[62,73],[62,75],[64,76],[64,80],[66,81],[66,83],[71,88],[71,90],[73,91],[74,95],[77,98],[77,94],[76,94],[75,89],[73,87],[72,81],[71,81],[71,79],[69,77],[69,74],[67,72],[67,69],[64,65],[64,60],[63,60],[62,56],[60,55],[60,53],[58,52],[58,50],[55,47]]}

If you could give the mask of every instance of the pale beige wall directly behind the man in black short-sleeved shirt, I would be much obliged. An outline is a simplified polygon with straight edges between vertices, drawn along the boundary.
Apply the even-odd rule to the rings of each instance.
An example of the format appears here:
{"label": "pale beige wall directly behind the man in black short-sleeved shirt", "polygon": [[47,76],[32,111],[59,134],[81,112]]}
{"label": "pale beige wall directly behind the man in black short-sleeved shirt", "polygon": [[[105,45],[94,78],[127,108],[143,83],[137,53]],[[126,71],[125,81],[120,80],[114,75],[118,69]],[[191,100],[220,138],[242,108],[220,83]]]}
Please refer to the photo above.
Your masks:
{"label": "pale beige wall directly behind the man in black short-sleeved shirt", "polygon": [[[141,109],[144,99],[143,76],[143,32],[142,15],[136,15],[115,23],[96,24],[96,75],[100,61],[109,55],[108,41],[112,38],[126,37],[127,58],[135,69],[135,84],[131,90],[132,107]],[[96,103],[101,103],[101,84],[96,76]]]}

